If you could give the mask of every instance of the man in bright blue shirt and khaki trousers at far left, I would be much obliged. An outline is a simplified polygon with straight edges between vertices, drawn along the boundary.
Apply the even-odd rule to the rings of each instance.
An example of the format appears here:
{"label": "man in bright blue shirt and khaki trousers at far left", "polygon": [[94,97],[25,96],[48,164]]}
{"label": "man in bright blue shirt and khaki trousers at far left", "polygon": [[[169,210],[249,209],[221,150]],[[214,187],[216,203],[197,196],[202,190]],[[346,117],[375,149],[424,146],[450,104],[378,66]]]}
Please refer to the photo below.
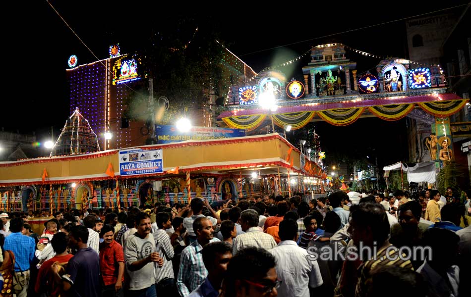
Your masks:
{"label": "man in bright blue shirt and khaki trousers at far left", "polygon": [[10,221],[11,234],[5,238],[4,250],[11,250],[15,255],[15,277],[13,292],[17,297],[26,297],[29,285],[29,266],[34,258],[34,239],[21,234],[23,219],[14,218]]}

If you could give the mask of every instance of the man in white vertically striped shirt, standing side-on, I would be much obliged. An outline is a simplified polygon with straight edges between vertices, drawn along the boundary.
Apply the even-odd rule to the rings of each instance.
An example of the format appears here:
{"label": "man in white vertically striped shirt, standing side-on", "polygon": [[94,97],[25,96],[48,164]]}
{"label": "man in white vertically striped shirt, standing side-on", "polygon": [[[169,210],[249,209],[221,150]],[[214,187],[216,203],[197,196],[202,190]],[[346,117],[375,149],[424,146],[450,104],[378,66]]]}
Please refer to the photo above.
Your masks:
{"label": "man in white vertically striped shirt, standing side-on", "polygon": [[157,284],[157,296],[175,296],[175,276],[174,268],[172,265],[172,258],[174,257],[174,248],[170,243],[170,237],[165,231],[172,226],[170,220],[170,213],[159,212],[156,215],[157,229],[153,235],[155,240],[155,251],[160,254],[164,259],[164,265],[158,266],[155,264],[155,283]]}

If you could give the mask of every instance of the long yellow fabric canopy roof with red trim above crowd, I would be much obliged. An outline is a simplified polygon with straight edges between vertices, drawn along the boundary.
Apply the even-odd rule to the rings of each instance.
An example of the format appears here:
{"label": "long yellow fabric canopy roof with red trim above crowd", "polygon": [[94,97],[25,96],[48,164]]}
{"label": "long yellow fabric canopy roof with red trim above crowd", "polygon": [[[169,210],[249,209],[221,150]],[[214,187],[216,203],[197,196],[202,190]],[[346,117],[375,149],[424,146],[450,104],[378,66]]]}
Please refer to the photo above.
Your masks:
{"label": "long yellow fabric canopy roof with red trim above crowd", "polygon": [[[301,164],[300,151],[278,134],[237,137],[223,140],[185,141],[180,143],[138,147],[145,150],[163,150],[163,173],[120,176],[119,150],[112,149],[89,154],[52,156],[0,162],[0,186],[31,184],[58,184],[90,180],[112,179],[105,172],[111,163],[115,178],[142,178],[146,176],[173,176],[167,171],[179,167],[180,174],[257,175],[300,173],[321,176],[317,170],[304,169],[306,164],[319,167],[307,160]],[[125,148],[122,150],[129,150]],[[302,157],[304,158],[304,157]],[[43,182],[44,170],[47,177]]]}

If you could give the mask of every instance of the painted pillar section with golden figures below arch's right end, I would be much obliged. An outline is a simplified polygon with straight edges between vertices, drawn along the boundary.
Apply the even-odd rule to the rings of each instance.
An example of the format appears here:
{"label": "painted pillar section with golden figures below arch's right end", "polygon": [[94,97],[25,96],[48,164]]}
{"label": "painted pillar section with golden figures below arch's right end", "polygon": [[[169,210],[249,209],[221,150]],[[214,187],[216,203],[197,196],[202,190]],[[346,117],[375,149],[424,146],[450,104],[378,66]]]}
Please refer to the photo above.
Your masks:
{"label": "painted pillar section with golden figures below arch's right end", "polygon": [[429,144],[430,156],[435,160],[437,171],[455,158],[449,117],[435,118],[435,124],[432,124]]}

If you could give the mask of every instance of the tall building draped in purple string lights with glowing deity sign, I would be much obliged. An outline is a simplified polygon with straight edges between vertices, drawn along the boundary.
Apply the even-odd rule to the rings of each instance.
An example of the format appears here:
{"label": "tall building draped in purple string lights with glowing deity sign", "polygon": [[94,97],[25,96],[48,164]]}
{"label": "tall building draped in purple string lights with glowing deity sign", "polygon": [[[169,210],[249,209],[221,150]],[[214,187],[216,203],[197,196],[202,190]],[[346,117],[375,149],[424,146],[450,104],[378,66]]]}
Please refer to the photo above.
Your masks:
{"label": "tall building draped in purple string lights with glowing deity sign", "polygon": [[[110,47],[110,55],[119,48]],[[124,71],[121,71],[124,65]],[[145,137],[140,134],[142,120],[128,121],[126,107],[132,100],[136,82],[146,77],[137,55],[120,54],[116,57],[82,64],[66,70],[70,84],[70,113],[78,107],[98,137],[102,149],[141,146]],[[142,79],[140,79],[142,78]],[[105,139],[105,133],[113,135]]]}

